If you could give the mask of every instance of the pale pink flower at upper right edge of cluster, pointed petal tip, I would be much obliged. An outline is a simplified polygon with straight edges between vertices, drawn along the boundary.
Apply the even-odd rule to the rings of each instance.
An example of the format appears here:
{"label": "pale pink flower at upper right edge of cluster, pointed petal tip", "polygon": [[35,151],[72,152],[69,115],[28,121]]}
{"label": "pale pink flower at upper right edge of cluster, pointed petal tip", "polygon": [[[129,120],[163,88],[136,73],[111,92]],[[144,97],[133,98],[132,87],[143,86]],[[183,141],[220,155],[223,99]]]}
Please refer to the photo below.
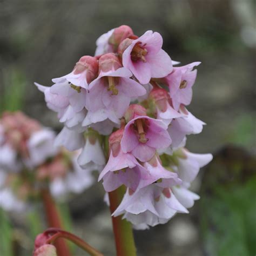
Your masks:
{"label": "pale pink flower at upper right edge of cluster, pointed petal tip", "polygon": [[197,77],[197,70],[193,70],[193,68],[200,63],[193,62],[186,66],[174,67],[172,73],[165,77],[174,109],[179,110],[180,104],[189,105],[191,103],[192,86]]}

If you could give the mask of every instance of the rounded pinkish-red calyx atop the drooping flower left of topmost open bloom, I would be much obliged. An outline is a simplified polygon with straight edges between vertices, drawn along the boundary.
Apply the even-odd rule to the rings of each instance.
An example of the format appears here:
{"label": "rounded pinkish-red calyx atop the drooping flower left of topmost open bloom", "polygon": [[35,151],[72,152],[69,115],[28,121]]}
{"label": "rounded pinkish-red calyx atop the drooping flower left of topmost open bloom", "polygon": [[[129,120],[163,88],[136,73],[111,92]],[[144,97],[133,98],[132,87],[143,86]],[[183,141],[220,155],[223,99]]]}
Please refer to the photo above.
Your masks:
{"label": "rounded pinkish-red calyx atop the drooping flower left of topmost open bloom", "polygon": [[121,67],[122,64],[114,53],[106,53],[99,58],[99,73],[113,72]]}

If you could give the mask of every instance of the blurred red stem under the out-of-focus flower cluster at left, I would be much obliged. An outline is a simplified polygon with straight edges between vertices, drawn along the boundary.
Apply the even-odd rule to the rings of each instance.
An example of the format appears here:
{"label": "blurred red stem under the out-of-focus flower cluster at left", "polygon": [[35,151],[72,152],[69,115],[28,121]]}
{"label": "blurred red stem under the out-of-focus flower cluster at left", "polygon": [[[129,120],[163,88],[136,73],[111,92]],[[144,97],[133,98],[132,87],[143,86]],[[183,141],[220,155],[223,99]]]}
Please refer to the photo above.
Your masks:
{"label": "blurred red stem under the out-of-focus flower cluster at left", "polygon": [[[51,197],[51,194],[48,190],[42,190],[41,194],[49,227],[62,228],[59,212],[57,210],[55,202]],[[55,246],[57,248],[58,256],[71,256],[69,247],[66,244],[66,241],[64,241],[63,239],[58,239],[55,243]]]}

